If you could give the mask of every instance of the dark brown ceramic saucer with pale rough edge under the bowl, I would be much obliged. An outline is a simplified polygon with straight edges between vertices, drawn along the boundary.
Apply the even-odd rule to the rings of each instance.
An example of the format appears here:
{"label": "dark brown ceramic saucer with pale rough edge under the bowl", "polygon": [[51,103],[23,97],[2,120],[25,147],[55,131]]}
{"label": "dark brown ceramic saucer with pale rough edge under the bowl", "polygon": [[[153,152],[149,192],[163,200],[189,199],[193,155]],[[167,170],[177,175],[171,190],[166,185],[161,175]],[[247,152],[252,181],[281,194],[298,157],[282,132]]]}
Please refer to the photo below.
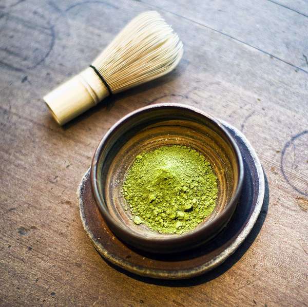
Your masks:
{"label": "dark brown ceramic saucer with pale rough edge under the bowl", "polygon": [[235,213],[209,242],[174,254],[151,254],[128,246],[113,235],[92,195],[90,169],[78,188],[80,216],[96,250],[124,270],[160,279],[184,279],[212,270],[232,255],[253,228],[264,199],[264,174],[252,145],[236,128],[222,122],[235,138],[244,161],[244,185]]}

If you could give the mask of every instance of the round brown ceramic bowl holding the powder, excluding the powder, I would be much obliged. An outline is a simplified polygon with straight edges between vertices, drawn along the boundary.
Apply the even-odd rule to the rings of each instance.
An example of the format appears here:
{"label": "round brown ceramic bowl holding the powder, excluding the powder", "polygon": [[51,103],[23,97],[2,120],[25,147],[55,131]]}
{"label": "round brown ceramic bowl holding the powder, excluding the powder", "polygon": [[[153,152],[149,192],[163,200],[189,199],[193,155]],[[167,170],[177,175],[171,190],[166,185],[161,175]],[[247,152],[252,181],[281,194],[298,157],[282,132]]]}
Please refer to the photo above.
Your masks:
{"label": "round brown ceramic bowl holding the powder, excluding the powder", "polygon": [[[182,235],[159,234],[133,223],[125,210],[122,185],[126,172],[142,151],[181,144],[201,152],[218,178],[213,213]],[[189,106],[157,104],[131,112],[106,133],[95,151],[91,185],[100,213],[124,242],[152,253],[188,250],[213,238],[236,208],[243,184],[243,161],[235,140],[214,118]]]}

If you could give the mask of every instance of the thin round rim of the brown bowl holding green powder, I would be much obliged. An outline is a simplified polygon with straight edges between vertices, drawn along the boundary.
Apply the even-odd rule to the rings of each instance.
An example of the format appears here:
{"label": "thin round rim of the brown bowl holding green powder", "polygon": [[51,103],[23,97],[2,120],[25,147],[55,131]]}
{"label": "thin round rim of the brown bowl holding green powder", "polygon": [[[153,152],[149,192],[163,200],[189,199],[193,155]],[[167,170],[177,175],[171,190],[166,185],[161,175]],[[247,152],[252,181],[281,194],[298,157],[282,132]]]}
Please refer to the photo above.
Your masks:
{"label": "thin round rim of the brown bowl holding green powder", "polygon": [[[144,112],[144,111],[150,111],[150,110],[156,109],[156,108],[165,108],[165,107],[182,108],[182,109],[187,109],[189,111],[196,112],[199,115],[206,117],[213,124],[218,126],[219,129],[222,130],[224,135],[227,137],[228,141],[230,142],[230,144],[232,145],[232,147],[234,149],[234,152],[236,154],[236,162],[237,162],[238,168],[239,168],[239,176],[238,176],[238,181],[236,183],[237,187],[236,187],[236,191],[234,193],[234,196],[226,204],[225,209],[218,216],[216,216],[213,220],[211,220],[210,222],[205,223],[204,225],[202,225],[198,229],[192,229],[189,232],[183,233],[181,235],[174,235],[172,237],[171,236],[169,236],[169,237],[161,236],[161,237],[156,237],[156,238],[142,237],[140,235],[132,233],[128,228],[124,227],[121,223],[118,223],[117,221],[115,221],[112,218],[112,216],[109,214],[107,206],[106,206],[104,200],[101,199],[100,194],[99,194],[99,189],[98,189],[99,182],[98,182],[98,179],[97,179],[98,162],[99,162],[99,158],[100,158],[101,152],[104,148],[106,140],[112,135],[113,131],[118,126],[125,123],[131,117],[133,117],[134,115],[136,115],[138,113],[141,113],[141,112]],[[158,103],[158,104],[152,104],[152,105],[149,105],[149,106],[145,106],[145,107],[139,108],[137,110],[134,110],[134,111],[128,113],[126,116],[122,117],[119,121],[117,121],[115,124],[113,124],[108,129],[108,131],[105,133],[104,137],[101,139],[97,149],[94,152],[94,155],[93,155],[93,158],[92,158],[90,176],[91,176],[92,192],[93,192],[95,202],[97,203],[99,210],[100,210],[100,213],[102,214],[103,218],[105,219],[105,221],[108,225],[111,224],[113,227],[117,228],[117,230],[119,230],[121,234],[124,233],[127,237],[132,238],[133,241],[137,240],[137,241],[144,241],[144,242],[147,242],[147,243],[159,242],[159,243],[172,244],[173,245],[175,243],[181,244],[181,243],[184,243],[186,241],[189,241],[190,239],[195,238],[198,235],[200,236],[203,233],[206,233],[207,229],[214,227],[214,225],[219,223],[220,220],[226,219],[228,221],[232,217],[234,209],[237,205],[238,199],[239,199],[240,194],[241,194],[242,186],[243,186],[244,165],[243,165],[242,155],[241,155],[240,149],[239,149],[236,141],[230,135],[230,133],[226,130],[226,128],[218,120],[216,120],[214,117],[210,116],[208,113],[206,113],[206,112],[204,112],[204,111],[202,111],[198,108],[191,107],[189,105],[178,104],[178,103]],[[226,218],[226,216],[228,218]],[[121,239],[122,239],[122,236],[121,236]],[[124,240],[124,241],[126,241],[126,240]]]}

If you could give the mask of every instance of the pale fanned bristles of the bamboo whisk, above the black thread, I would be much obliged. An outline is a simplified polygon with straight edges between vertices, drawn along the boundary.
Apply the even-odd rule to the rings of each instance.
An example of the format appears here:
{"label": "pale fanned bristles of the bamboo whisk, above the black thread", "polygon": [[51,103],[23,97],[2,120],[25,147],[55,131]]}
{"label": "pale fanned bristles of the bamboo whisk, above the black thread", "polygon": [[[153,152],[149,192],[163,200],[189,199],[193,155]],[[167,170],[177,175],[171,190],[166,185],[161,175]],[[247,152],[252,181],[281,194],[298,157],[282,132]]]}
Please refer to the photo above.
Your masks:
{"label": "pale fanned bristles of the bamboo whisk, above the black thread", "polygon": [[135,17],[92,63],[113,93],[159,78],[179,63],[183,44],[155,11]]}

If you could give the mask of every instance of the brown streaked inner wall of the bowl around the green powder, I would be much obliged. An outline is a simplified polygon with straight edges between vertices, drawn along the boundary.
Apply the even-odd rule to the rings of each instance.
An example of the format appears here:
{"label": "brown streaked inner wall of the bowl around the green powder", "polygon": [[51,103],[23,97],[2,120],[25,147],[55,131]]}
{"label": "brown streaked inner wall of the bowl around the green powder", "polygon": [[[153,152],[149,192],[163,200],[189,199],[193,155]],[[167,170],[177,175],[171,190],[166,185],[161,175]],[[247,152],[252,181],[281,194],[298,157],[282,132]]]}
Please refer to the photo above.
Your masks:
{"label": "brown streaked inner wall of the bowl around the green powder", "polygon": [[115,222],[130,232],[148,238],[182,235],[160,234],[146,225],[136,225],[122,195],[123,181],[138,154],[164,145],[185,145],[210,162],[218,178],[216,207],[194,230],[213,221],[233,197],[239,178],[237,157],[220,124],[203,114],[179,107],[151,108],[134,113],[115,126],[105,141],[98,161],[98,189]]}

